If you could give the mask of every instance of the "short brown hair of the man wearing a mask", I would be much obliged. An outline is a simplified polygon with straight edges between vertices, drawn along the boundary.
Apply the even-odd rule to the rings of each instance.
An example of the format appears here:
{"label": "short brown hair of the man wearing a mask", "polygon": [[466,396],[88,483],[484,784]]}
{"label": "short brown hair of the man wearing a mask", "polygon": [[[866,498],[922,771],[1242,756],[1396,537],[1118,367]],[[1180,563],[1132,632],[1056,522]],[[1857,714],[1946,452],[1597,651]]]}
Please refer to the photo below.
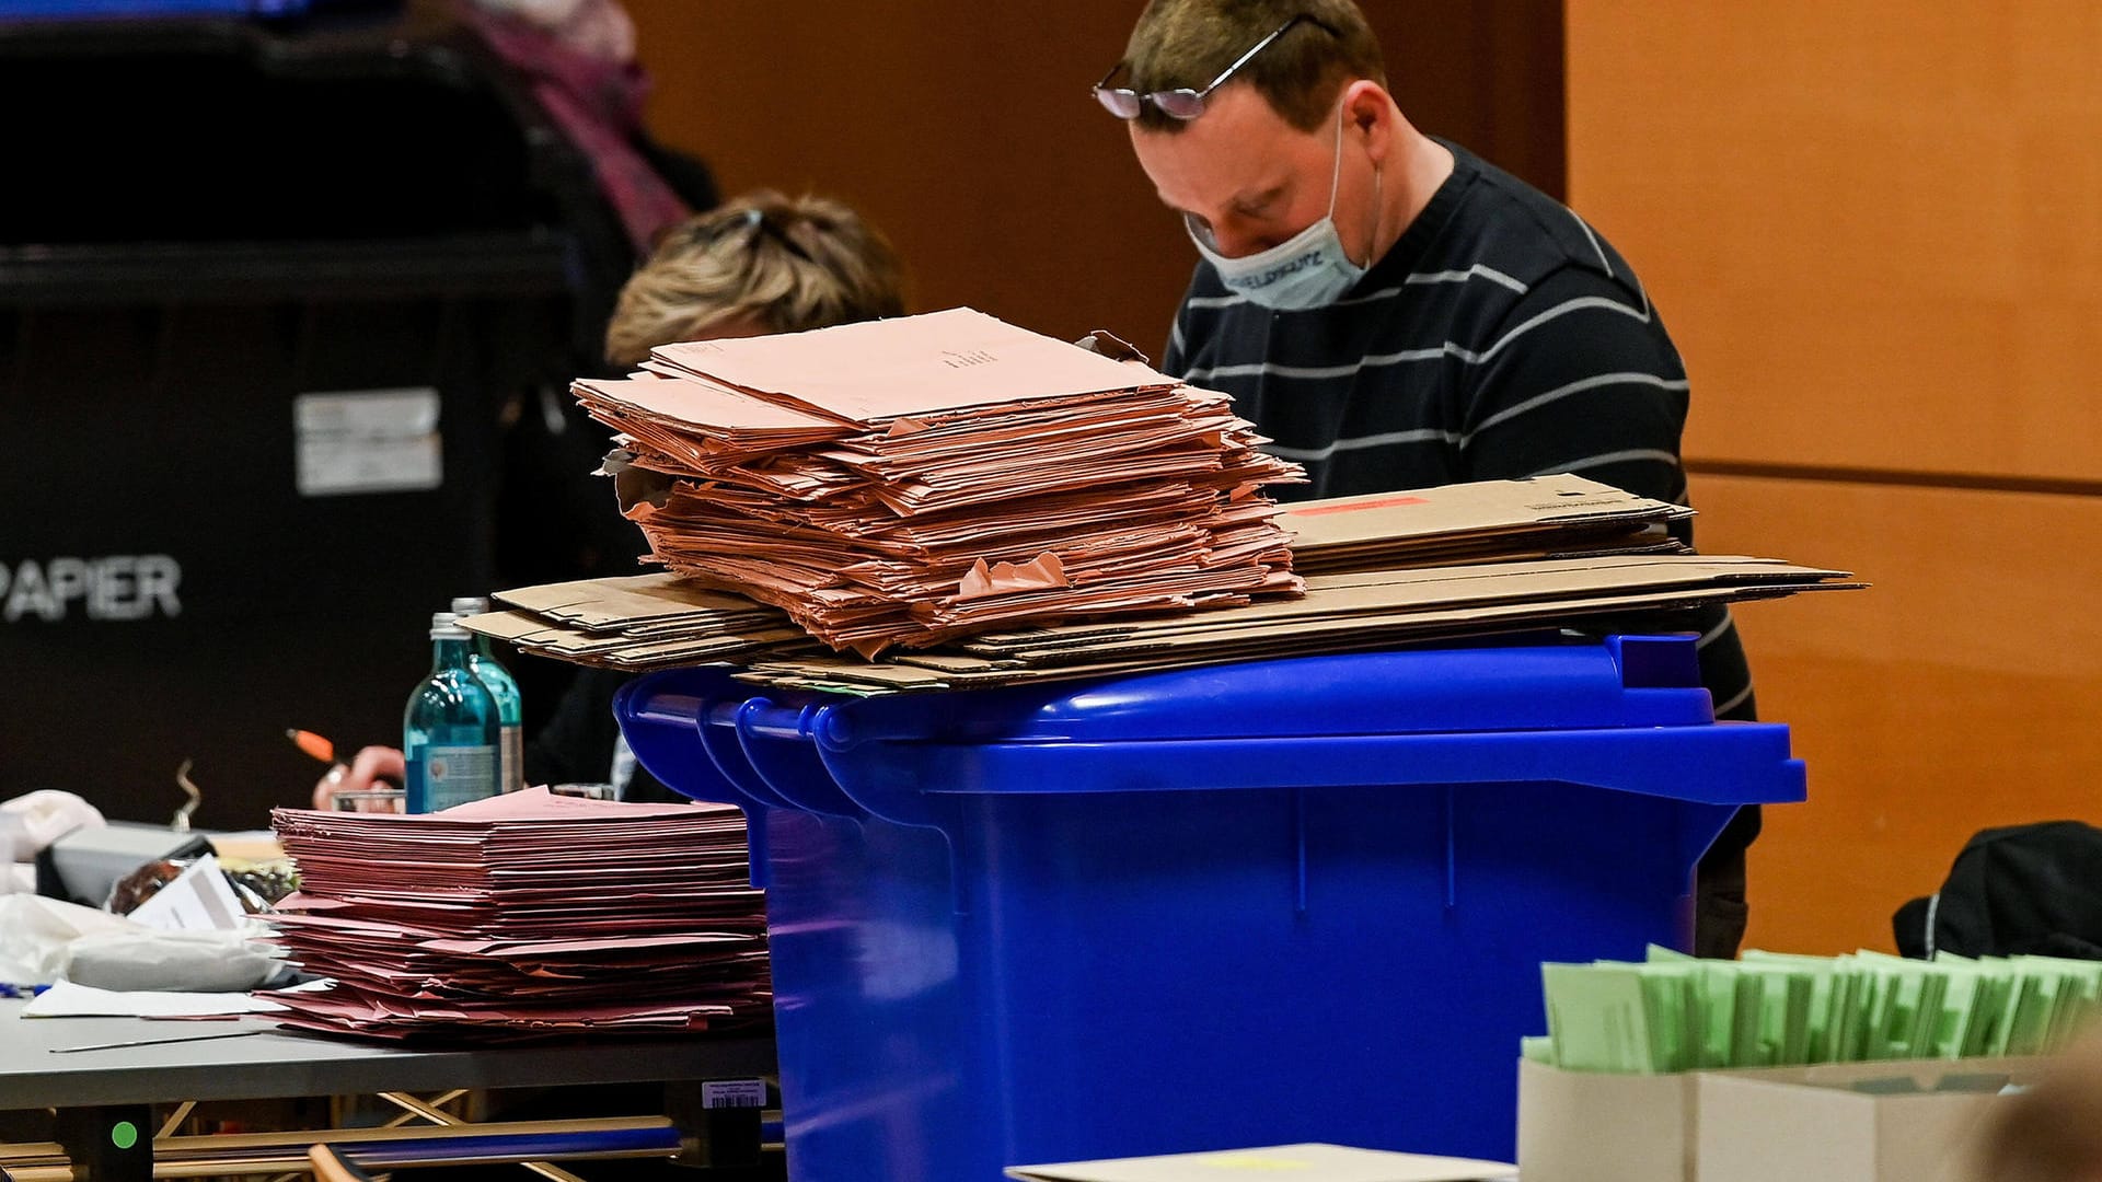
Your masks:
{"label": "short brown hair of the man wearing a mask", "polygon": [[[1358,78],[1387,84],[1379,38],[1352,0],[1152,0],[1125,46],[1125,82],[1146,95],[1202,90],[1249,46],[1293,17],[1307,17],[1263,46],[1228,84],[1249,82],[1270,109],[1314,130],[1335,116],[1335,97]],[[1202,118],[1202,116],[1198,116]],[[1183,120],[1139,107],[1139,126],[1177,133]]]}

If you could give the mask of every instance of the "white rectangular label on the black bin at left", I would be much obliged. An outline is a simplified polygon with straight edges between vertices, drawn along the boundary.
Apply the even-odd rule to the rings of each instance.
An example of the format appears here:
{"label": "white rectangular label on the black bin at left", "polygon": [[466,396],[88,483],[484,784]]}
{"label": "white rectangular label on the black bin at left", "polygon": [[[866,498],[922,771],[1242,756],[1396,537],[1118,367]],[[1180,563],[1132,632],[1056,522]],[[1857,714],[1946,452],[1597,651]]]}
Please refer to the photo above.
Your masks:
{"label": "white rectangular label on the black bin at left", "polygon": [[446,482],[437,389],[353,389],[292,400],[298,494],[416,492]]}

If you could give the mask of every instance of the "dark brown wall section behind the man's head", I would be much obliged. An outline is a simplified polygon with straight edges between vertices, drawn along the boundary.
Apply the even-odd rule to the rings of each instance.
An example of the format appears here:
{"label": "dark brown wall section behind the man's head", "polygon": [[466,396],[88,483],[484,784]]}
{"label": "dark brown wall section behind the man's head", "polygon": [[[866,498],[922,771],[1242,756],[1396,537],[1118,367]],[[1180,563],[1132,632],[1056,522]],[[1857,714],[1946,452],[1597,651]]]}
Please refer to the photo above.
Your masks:
{"label": "dark brown wall section behind the man's head", "polygon": [[[1137,0],[626,0],[656,137],[725,193],[826,191],[898,244],[912,307],[1167,341],[1196,252],[1087,88]],[[1429,133],[1562,189],[1562,6],[1371,0],[1396,97]]]}

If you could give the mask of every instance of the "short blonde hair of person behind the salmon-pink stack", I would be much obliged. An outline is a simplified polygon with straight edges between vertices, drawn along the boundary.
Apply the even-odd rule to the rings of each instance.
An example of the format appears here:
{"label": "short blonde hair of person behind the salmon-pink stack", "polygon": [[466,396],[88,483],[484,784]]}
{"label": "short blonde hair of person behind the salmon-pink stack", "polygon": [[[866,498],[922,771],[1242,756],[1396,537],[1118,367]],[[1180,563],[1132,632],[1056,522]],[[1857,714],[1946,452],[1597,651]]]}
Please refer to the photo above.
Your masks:
{"label": "short blonde hair of person behind the salmon-pink stack", "polygon": [[673,227],[620,288],[605,360],[633,366],[656,345],[727,324],[801,332],[904,315],[891,244],[830,198],[761,189]]}

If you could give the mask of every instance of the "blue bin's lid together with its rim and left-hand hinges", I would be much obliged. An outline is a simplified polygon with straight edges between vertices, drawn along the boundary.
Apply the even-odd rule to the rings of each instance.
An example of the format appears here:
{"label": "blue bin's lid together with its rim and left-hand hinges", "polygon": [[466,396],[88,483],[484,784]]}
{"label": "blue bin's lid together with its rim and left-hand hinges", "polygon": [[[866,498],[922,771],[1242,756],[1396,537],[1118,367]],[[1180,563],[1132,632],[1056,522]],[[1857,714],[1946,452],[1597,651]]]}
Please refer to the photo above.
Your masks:
{"label": "blue bin's lid together with its rim and left-hand hinges", "polygon": [[959,795],[1244,787],[1804,799],[1787,726],[1715,724],[1696,637],[1526,639],[874,698],[675,669],[626,686],[614,713],[658,778],[748,806],[755,824],[809,810],[940,829],[937,801]]}

